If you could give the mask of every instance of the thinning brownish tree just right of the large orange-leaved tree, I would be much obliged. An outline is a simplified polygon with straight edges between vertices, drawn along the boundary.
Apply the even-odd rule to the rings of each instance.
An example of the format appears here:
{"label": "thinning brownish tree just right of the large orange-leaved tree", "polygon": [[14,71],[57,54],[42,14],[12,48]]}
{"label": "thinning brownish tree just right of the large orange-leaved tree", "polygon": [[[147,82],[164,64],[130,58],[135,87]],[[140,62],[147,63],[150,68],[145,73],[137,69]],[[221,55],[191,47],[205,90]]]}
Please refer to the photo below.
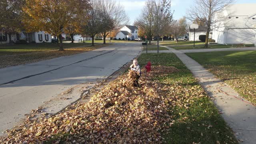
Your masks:
{"label": "thinning brownish tree just right of the large orange-leaved tree", "polygon": [[92,8],[88,12],[89,18],[85,19],[86,25],[82,26],[81,33],[90,35],[92,38],[92,46],[94,46],[94,36],[100,32],[101,21],[95,0],[90,0],[90,4]]}

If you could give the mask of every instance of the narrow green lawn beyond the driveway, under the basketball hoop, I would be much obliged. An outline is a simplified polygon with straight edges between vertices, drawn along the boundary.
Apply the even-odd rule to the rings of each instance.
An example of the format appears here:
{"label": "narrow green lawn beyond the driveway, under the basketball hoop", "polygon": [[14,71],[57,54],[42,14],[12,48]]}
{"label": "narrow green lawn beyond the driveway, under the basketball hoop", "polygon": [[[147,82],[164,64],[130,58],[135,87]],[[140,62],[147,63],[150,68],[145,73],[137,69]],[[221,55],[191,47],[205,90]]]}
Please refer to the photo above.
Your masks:
{"label": "narrow green lawn beyond the driveway, under the basketball hoop", "polygon": [[[195,44],[195,49],[206,49],[204,48],[204,45],[198,45],[200,43],[197,43],[197,45]],[[170,46],[171,48],[174,48],[176,50],[190,50],[190,49],[194,49],[193,48],[193,44],[192,45],[186,45],[186,46]],[[239,44],[228,44],[228,45],[224,45],[224,44],[209,44],[208,48],[231,48],[231,47],[235,47],[235,48],[239,48],[239,47],[244,47],[244,45],[239,45]],[[254,47],[253,44],[246,44],[245,47]]]}

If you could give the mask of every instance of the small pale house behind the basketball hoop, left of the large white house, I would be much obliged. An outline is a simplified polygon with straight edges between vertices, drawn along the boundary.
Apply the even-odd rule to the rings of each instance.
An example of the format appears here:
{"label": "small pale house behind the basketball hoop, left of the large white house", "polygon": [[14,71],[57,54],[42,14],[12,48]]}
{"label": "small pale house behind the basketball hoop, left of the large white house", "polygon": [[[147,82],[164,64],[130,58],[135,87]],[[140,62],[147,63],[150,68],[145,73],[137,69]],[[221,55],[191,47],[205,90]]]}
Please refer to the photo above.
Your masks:
{"label": "small pale house behind the basketball hoop, left of the large white house", "polygon": [[[199,41],[199,36],[200,35],[206,35],[206,26],[198,26],[198,29],[194,29],[189,27],[188,31],[188,38],[190,41],[194,41],[194,33],[195,33],[195,41]],[[209,38],[212,38],[212,32],[209,34]]]}

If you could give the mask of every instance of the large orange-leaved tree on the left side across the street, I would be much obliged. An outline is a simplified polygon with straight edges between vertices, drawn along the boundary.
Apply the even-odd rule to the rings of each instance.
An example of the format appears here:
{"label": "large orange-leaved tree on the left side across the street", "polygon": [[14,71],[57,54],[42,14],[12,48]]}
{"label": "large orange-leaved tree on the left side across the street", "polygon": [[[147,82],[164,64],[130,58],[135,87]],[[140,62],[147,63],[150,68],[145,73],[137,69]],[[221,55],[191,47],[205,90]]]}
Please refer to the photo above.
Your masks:
{"label": "large orange-leaved tree on the left side across the street", "polygon": [[26,0],[23,22],[28,31],[45,31],[58,36],[60,50],[63,50],[62,33],[69,24],[82,20],[79,17],[89,8],[89,0]]}

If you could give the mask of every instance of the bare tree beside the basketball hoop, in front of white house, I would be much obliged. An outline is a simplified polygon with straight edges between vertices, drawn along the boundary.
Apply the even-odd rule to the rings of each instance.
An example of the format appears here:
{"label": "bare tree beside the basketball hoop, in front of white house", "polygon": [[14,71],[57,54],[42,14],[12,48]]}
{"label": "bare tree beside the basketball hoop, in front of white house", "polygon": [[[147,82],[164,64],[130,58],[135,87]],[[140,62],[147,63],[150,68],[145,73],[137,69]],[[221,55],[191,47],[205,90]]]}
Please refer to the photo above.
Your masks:
{"label": "bare tree beside the basketball hoop, in front of white house", "polygon": [[222,12],[227,8],[230,4],[234,2],[234,0],[194,0],[196,6],[191,6],[188,11],[187,19],[191,21],[200,21],[203,22],[206,29],[206,40],[205,40],[205,48],[208,47],[208,38],[209,33],[212,30],[211,28],[218,28],[221,25],[221,22],[226,21],[228,16],[222,15]]}

